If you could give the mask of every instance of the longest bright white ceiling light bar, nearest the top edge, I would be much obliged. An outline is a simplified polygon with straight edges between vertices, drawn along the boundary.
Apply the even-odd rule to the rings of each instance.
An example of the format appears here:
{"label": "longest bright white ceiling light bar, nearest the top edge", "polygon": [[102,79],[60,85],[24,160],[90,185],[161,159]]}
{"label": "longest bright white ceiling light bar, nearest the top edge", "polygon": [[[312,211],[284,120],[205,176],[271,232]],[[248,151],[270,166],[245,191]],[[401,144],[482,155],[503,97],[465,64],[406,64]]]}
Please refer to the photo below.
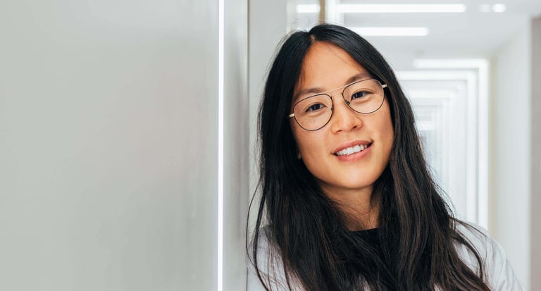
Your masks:
{"label": "longest bright white ceiling light bar, nearest the top edge", "polygon": [[340,13],[461,13],[464,4],[340,4]]}

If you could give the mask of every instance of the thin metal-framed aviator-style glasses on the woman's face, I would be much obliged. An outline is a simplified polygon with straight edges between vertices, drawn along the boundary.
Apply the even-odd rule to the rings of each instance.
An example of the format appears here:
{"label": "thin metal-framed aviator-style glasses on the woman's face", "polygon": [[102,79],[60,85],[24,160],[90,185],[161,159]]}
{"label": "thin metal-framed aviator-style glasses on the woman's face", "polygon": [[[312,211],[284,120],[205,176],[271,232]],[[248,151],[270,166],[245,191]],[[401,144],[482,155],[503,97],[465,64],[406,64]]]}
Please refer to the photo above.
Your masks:
{"label": "thin metal-framed aviator-style glasses on the woman's face", "polygon": [[344,86],[342,93],[334,95],[321,93],[297,101],[293,106],[293,113],[288,117],[295,118],[297,124],[304,130],[321,129],[332,117],[332,109],[334,109],[332,97],[338,94],[342,94],[347,106],[353,111],[363,114],[373,113],[383,105],[385,98],[383,88],[385,87],[387,85],[382,85],[375,79],[352,82]]}

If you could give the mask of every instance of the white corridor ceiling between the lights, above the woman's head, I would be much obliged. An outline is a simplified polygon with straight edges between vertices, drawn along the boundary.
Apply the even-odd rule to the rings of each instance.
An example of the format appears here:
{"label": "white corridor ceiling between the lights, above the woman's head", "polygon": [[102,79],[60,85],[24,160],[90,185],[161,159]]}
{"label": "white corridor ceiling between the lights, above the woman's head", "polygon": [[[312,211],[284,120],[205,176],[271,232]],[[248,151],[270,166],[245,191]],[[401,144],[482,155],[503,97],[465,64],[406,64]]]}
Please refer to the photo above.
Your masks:
{"label": "white corridor ceiling between the lights, above the woman's head", "polygon": [[[347,27],[427,27],[424,37],[368,37],[396,69],[409,69],[416,58],[490,58],[499,47],[541,17],[541,0],[359,1],[341,4],[465,4],[464,13],[344,13]],[[318,4],[297,0],[297,4]],[[505,4],[503,13],[480,12],[481,5]],[[316,23],[318,13],[297,14],[294,22]]]}

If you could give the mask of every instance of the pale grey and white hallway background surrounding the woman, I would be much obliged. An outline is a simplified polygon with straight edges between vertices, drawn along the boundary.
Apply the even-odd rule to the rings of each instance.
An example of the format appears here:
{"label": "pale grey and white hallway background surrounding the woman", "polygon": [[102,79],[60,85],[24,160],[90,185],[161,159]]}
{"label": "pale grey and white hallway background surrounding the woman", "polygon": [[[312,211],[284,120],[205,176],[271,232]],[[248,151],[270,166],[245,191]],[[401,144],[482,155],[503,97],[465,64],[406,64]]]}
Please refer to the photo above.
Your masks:
{"label": "pale grey and white hallway background surrounding the woman", "polygon": [[397,72],[457,216],[541,290],[541,1],[0,1],[0,290],[244,290],[256,111],[325,20]]}

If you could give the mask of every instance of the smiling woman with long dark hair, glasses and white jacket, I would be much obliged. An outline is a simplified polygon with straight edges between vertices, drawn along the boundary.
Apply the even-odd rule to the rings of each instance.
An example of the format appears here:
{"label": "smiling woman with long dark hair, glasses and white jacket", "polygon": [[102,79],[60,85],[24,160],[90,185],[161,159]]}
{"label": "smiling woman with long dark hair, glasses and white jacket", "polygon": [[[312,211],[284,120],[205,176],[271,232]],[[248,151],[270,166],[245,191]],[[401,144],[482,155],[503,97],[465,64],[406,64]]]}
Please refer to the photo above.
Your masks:
{"label": "smiling woman with long dark hair, glasses and white jacket", "polygon": [[259,132],[249,290],[521,290],[499,244],[452,216],[409,101],[359,35],[289,35]]}

